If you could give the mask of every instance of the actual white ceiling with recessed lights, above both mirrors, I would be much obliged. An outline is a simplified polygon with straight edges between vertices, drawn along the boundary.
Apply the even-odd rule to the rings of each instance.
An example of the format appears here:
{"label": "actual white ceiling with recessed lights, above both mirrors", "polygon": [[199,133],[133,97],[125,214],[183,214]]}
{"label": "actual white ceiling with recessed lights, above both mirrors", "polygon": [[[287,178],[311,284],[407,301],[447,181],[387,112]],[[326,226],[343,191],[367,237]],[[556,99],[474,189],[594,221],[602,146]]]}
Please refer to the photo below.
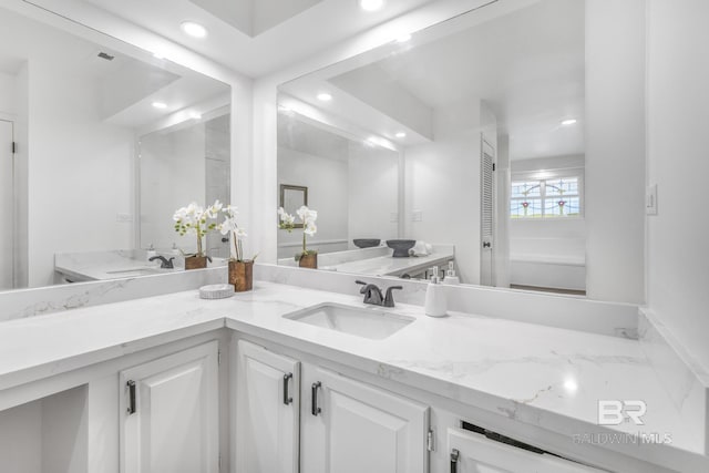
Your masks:
{"label": "actual white ceiling with recessed lights, above both mirrors", "polygon": [[[52,10],[53,2],[34,0]],[[189,48],[247,76],[297,63],[358,32],[435,0],[387,0],[377,12],[356,0],[81,0]],[[205,25],[195,39],[183,21]]]}

